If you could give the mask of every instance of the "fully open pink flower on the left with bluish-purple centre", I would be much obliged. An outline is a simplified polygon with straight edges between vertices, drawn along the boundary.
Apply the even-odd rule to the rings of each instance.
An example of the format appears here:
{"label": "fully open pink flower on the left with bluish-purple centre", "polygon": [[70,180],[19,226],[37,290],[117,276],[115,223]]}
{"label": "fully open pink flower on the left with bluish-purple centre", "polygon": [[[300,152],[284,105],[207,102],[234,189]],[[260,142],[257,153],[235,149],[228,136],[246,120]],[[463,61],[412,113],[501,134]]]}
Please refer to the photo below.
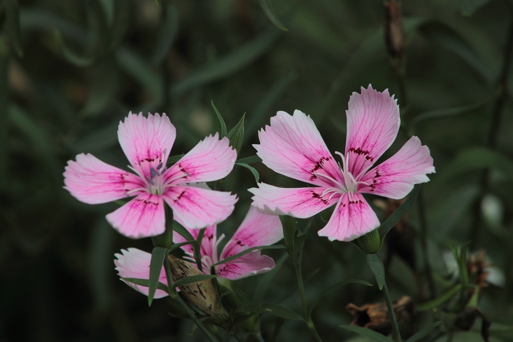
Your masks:
{"label": "fully open pink flower on the left with bluish-purple centre", "polygon": [[190,186],[227,176],[233,169],[236,151],[228,138],[210,135],[169,169],[166,161],[176,130],[166,114],[144,117],[130,112],[117,129],[121,148],[134,173],[110,166],[92,154],[78,154],[69,160],[64,184],[71,195],[88,204],[107,203],[135,196],[106,216],[121,234],[140,238],[165,231],[164,202],[184,226],[203,228],[219,223],[237,202],[229,192]]}

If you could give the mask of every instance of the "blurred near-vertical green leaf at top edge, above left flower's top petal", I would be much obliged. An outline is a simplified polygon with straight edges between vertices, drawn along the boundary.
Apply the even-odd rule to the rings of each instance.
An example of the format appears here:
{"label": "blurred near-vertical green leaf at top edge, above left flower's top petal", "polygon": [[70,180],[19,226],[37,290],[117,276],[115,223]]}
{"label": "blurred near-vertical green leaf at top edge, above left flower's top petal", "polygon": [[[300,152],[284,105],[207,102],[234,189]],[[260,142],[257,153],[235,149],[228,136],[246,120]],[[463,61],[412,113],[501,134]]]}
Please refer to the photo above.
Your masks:
{"label": "blurred near-vertical green leaf at top edge, above left flower's top petal", "polygon": [[157,66],[164,61],[169,48],[174,42],[176,32],[178,32],[178,11],[176,7],[168,3],[165,8],[164,21],[156,36],[155,50],[151,59],[153,65]]}

